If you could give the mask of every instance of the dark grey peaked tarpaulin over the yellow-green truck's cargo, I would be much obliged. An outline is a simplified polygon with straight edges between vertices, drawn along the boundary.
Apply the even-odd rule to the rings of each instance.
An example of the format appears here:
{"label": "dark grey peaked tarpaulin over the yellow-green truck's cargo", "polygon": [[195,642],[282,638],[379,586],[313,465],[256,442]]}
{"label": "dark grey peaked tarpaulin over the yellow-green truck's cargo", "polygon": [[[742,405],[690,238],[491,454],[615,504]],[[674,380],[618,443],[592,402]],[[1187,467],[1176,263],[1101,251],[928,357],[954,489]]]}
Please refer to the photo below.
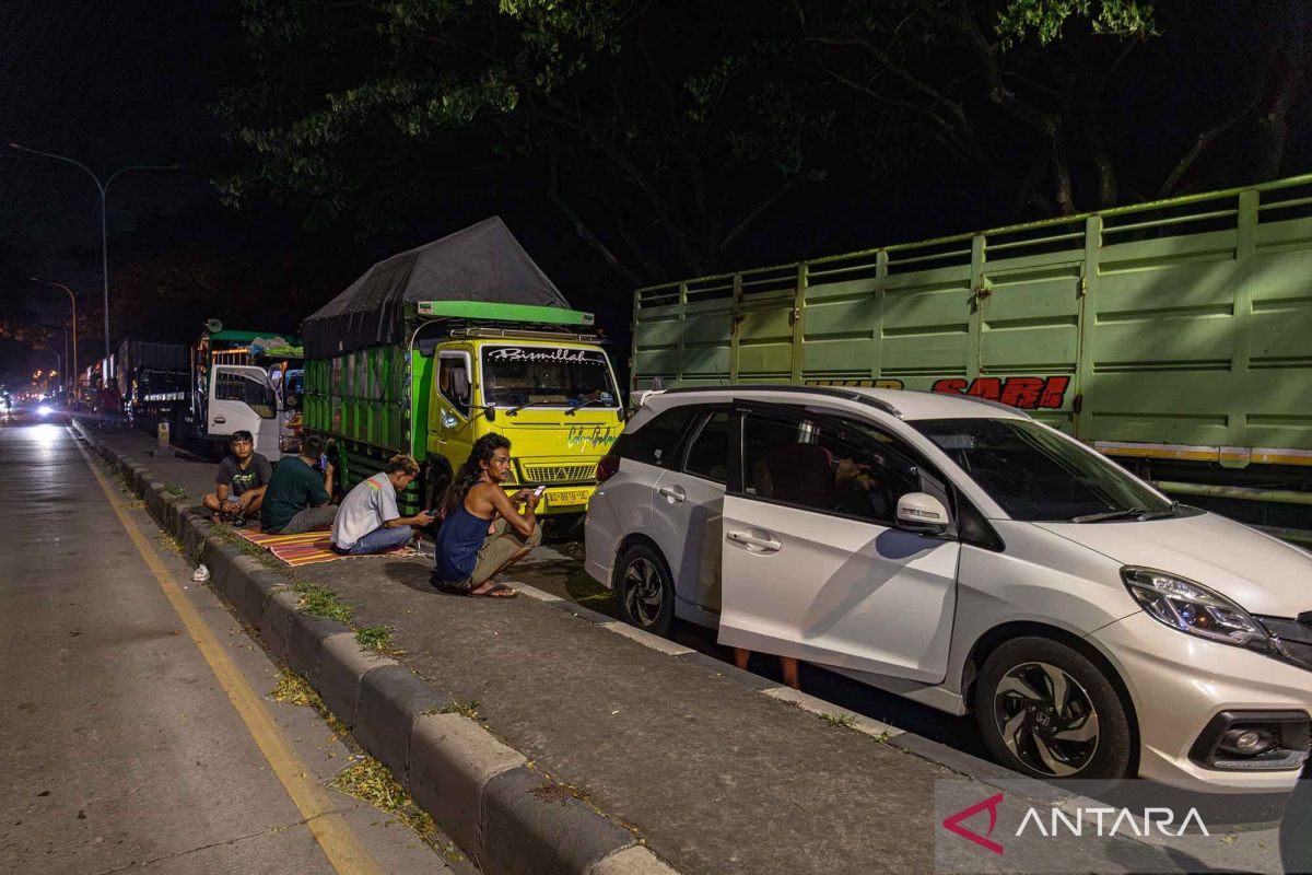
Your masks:
{"label": "dark grey peaked tarpaulin over the yellow-green truck's cargo", "polygon": [[404,304],[415,300],[569,307],[500,216],[492,216],[366,270],[302,324],[306,354],[328,358],[404,342]]}

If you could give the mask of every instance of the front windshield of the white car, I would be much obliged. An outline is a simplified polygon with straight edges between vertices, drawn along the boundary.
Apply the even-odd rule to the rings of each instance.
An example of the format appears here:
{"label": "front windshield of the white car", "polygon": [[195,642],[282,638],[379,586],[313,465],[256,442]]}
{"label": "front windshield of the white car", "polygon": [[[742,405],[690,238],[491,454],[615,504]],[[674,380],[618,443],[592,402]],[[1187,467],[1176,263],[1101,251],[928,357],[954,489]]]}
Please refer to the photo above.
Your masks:
{"label": "front windshield of the white car", "polygon": [[1013,519],[1098,522],[1170,514],[1174,506],[1113,462],[1030,420],[921,420],[911,425]]}

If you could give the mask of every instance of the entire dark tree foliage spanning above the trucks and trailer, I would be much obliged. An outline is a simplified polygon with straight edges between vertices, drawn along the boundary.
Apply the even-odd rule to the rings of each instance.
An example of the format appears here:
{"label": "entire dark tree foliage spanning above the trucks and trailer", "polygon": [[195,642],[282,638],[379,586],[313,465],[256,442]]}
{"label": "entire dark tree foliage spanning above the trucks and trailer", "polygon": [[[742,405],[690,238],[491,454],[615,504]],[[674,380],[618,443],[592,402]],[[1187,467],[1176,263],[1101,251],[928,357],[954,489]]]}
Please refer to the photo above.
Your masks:
{"label": "entire dark tree foliage spanning above the trucks and trailer", "polygon": [[[240,156],[230,203],[269,193],[367,236],[514,168],[631,283],[724,268],[854,182],[872,197],[950,176],[1019,219],[1270,177],[1307,91],[1298,0],[1253,13],[1242,68],[1208,56],[1220,17],[1139,0],[243,10],[249,75],[219,106]],[[1164,79],[1168,62],[1199,75]],[[1199,172],[1211,155],[1231,177]]]}

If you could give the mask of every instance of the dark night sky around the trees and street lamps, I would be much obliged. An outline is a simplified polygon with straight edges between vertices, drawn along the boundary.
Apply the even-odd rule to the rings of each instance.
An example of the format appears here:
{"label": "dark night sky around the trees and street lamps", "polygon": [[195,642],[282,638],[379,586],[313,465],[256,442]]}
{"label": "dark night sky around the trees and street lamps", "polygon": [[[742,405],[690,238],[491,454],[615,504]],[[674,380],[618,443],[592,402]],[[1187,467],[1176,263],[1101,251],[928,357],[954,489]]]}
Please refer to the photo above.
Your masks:
{"label": "dark night sky around the trees and street lamps", "polygon": [[[1199,4],[1202,8],[1207,4]],[[1166,29],[1143,54],[1143,75],[1124,100],[1145,108],[1135,130],[1114,131],[1115,148],[1140,153],[1160,176],[1195,135],[1186,130],[1214,102],[1215,81],[1252,75],[1249,60],[1263,34],[1250,26],[1248,7],[1207,7],[1206,33],[1190,34],[1187,64],[1170,67],[1181,29],[1198,16],[1191,4],[1169,4],[1183,24]],[[1169,8],[1166,7],[1166,8]],[[403,230],[357,239],[349,223],[310,232],[302,216],[252,201],[241,213],[219,203],[210,180],[235,160],[211,106],[244,66],[239,4],[185,0],[8,0],[0,10],[0,142],[59,152],[102,177],[129,164],[184,164],[185,172],[134,172],[109,195],[112,295],[118,283],[159,286],[115,310],[115,340],[136,336],[188,342],[201,320],[216,315],[234,327],[297,331],[303,316],[331,299],[373,261],[500,214],[538,264],[575,306],[623,337],[631,287],[586,249],[568,223],[546,203],[541,181],[527,168],[489,167],[476,178],[453,180],[430,210],[409,211]],[[1198,50],[1198,45],[1203,45]],[[1164,70],[1173,70],[1166,76]],[[1114,96],[1120,100],[1120,96]],[[1173,117],[1168,105],[1187,105]],[[1195,109],[1197,108],[1197,109]],[[1312,169],[1305,89],[1292,115],[1294,130],[1282,176]],[[1208,188],[1242,184],[1227,176],[1229,155],[1242,138],[1220,144],[1206,177]],[[1220,169],[1218,169],[1220,168]],[[792,209],[762,224],[726,268],[791,261],[807,256],[953,234],[1013,219],[1001,203],[980,195],[963,171],[922,167],[896,178],[834,173],[796,198]],[[1215,181],[1215,185],[1212,185]],[[1038,216],[1025,216],[1038,218]],[[193,274],[194,283],[182,277]],[[168,274],[165,282],[160,277]],[[38,275],[73,287],[93,315],[84,328],[83,365],[98,354],[100,218],[91,178],[75,167],[0,148],[0,321],[52,325],[67,321],[67,296],[34,286]],[[678,275],[664,277],[677,279]],[[185,287],[184,287],[185,286]],[[252,303],[258,302],[258,303]],[[62,349],[62,336],[55,336]],[[623,353],[617,358],[622,359]],[[46,362],[21,344],[0,338],[0,382]]]}

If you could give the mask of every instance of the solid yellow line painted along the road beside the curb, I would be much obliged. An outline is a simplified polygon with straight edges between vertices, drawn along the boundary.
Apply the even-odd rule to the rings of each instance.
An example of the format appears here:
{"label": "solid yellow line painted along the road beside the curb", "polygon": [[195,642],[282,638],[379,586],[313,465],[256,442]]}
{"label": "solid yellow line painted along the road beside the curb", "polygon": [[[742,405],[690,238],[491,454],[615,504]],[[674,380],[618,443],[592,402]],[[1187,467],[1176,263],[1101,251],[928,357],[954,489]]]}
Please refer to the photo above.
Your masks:
{"label": "solid yellow line painted along the road beside the curb", "polygon": [[278,724],[269,716],[269,711],[264,707],[260,695],[241,677],[241,672],[228,657],[223,645],[219,644],[219,639],[201,617],[195,605],[178,589],[173,576],[169,575],[160,560],[159,554],[151,547],[146,535],[133,522],[133,518],[127,516],[127,509],[114,493],[109,480],[96,470],[96,464],[88,457],[87,450],[81,445],[77,449],[81,451],[83,458],[87,459],[87,466],[100,483],[100,488],[105,491],[105,497],[109,499],[110,506],[114,508],[114,514],[123,523],[127,537],[133,539],[133,544],[146,561],[146,567],[155,575],[160,589],[164,590],[169,603],[173,605],[173,610],[182,619],[182,624],[186,627],[192,640],[195,641],[195,647],[199,648],[205,661],[210,664],[210,669],[223,686],[223,691],[228,694],[232,707],[241,715],[247,729],[251,731],[251,737],[260,746],[264,758],[269,761],[274,774],[278,775],[278,781],[286,788],[287,795],[291,796],[297,808],[300,809],[302,816],[306,819],[306,825],[310,826],[310,830],[314,833],[315,840],[319,841],[319,846],[323,847],[333,868],[342,872],[342,875],[382,875],[382,870],[378,868],[369,851],[359,844],[359,838],[352,832],[345,819],[329,804],[323,788],[307,777],[310,770],[300,761],[300,757],[297,756],[295,750],[293,750]]}

